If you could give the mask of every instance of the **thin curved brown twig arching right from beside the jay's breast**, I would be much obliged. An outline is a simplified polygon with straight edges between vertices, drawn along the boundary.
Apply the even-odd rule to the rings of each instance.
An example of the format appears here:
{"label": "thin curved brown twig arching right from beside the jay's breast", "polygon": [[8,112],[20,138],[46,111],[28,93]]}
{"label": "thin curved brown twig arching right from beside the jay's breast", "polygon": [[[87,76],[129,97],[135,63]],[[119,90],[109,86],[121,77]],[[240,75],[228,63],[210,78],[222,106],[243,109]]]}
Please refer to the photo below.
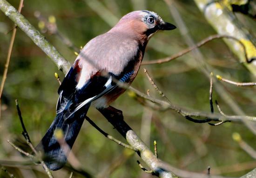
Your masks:
{"label": "thin curved brown twig arching right from beside the jay's breast", "polygon": [[222,39],[222,38],[232,39],[232,40],[236,40],[237,42],[239,42],[241,44],[241,46],[243,47],[246,62],[248,62],[248,63],[251,62],[247,57],[247,52],[246,52],[244,44],[239,39],[237,39],[236,37],[233,37],[233,36],[229,36],[229,35],[215,34],[215,35],[211,35],[211,36],[201,40],[200,42],[196,43],[195,46],[188,47],[187,49],[184,49],[181,52],[172,55],[171,57],[167,57],[167,58],[163,58],[163,59],[156,59],[156,60],[151,60],[151,61],[145,61],[145,62],[142,62],[141,65],[166,63],[166,62],[169,62],[171,60],[177,59],[177,58],[183,56],[184,54],[187,54],[187,53],[191,52],[192,50],[194,50],[198,47],[201,47],[201,46],[205,45],[206,43],[208,43],[211,40]]}

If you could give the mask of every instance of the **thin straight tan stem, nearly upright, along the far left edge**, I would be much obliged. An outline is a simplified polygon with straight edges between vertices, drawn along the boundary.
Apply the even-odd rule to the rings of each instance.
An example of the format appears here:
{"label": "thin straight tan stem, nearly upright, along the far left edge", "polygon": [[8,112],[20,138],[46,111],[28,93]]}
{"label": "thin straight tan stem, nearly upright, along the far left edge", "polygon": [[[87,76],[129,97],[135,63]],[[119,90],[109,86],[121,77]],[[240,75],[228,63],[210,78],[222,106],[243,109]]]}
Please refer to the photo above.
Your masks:
{"label": "thin straight tan stem, nearly upright, along the far left edge", "polygon": [[[23,0],[20,0],[20,5],[19,5],[19,9],[18,9],[19,13],[21,12],[22,7],[23,7]],[[15,40],[16,32],[17,32],[17,26],[15,25],[13,27],[13,34],[11,37],[8,54],[7,54],[7,59],[6,59],[6,63],[5,63],[5,69],[4,69],[4,73],[3,73],[3,77],[2,77],[2,81],[1,81],[1,85],[0,85],[0,119],[1,119],[1,97],[2,97],[3,90],[4,90],[5,81],[7,79],[7,72],[8,72],[8,67],[10,64],[11,54],[13,51],[13,43]]]}

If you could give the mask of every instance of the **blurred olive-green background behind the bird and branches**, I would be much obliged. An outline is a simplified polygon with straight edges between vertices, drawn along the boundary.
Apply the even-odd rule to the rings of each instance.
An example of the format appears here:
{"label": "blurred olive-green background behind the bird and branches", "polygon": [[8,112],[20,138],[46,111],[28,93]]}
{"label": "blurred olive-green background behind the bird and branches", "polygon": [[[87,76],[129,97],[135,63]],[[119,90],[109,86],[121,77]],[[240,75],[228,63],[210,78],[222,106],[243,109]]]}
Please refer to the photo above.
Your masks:
{"label": "blurred olive-green background behind the bird and branches", "polygon": [[[19,0],[8,0],[18,8]],[[147,9],[158,13],[163,20],[175,23],[175,15],[182,17],[182,29],[157,33],[149,41],[144,61],[168,57],[188,47],[186,38],[198,42],[216,31],[205,20],[193,0],[173,0],[175,11],[170,11],[168,0],[25,0],[22,14],[41,30],[57,50],[73,63],[76,52],[90,39],[107,32],[123,15],[134,10]],[[237,18],[251,33],[255,20],[237,12]],[[50,23],[50,24],[49,24]],[[216,21],[216,23],[218,23]],[[4,71],[13,22],[0,13],[0,76]],[[8,33],[9,32],[9,33]],[[255,34],[253,34],[255,35]],[[69,41],[68,41],[69,40]],[[68,46],[72,42],[74,46]],[[199,57],[198,57],[199,56]],[[199,58],[202,59],[201,62]],[[203,62],[202,62],[203,61]],[[168,99],[182,108],[210,112],[209,74],[240,82],[256,81],[223,40],[213,40],[198,51],[171,62],[141,66],[132,86],[160,98],[148,81],[143,68],[155,80]],[[7,139],[29,151],[21,135],[22,128],[15,107],[20,109],[32,143],[37,145],[55,117],[59,83],[54,78],[65,76],[55,64],[19,28],[14,41],[7,80],[2,94],[0,118],[0,160],[26,161]],[[216,90],[218,88],[218,90]],[[144,107],[131,92],[125,92],[113,103],[122,110],[125,121],[142,140],[154,150],[157,141],[158,156],[181,170],[207,172],[228,177],[240,177],[256,167],[256,160],[245,152],[241,140],[256,149],[255,135],[242,123],[227,122],[219,126],[193,123],[173,111],[157,111]],[[224,97],[223,97],[224,96]],[[227,115],[239,115],[234,107],[246,115],[256,116],[256,88],[237,87],[221,81],[213,84],[213,99],[217,99]],[[229,99],[227,104],[226,100]],[[215,112],[217,113],[217,108]],[[232,109],[233,108],[233,109]],[[113,126],[94,108],[88,112],[101,129],[125,142]],[[238,133],[238,134],[237,134]],[[233,139],[232,138],[236,138]],[[234,137],[235,136],[235,137]],[[238,139],[237,139],[238,137]],[[240,142],[237,142],[240,141]],[[105,138],[84,121],[72,149],[82,168],[97,178],[151,178],[136,163],[140,158],[133,152]],[[143,165],[143,161],[141,161]],[[47,178],[40,165],[9,165],[7,171],[18,178]],[[54,171],[55,178],[68,178],[70,171]],[[8,177],[0,170],[0,177]],[[74,173],[73,177],[81,177]]]}

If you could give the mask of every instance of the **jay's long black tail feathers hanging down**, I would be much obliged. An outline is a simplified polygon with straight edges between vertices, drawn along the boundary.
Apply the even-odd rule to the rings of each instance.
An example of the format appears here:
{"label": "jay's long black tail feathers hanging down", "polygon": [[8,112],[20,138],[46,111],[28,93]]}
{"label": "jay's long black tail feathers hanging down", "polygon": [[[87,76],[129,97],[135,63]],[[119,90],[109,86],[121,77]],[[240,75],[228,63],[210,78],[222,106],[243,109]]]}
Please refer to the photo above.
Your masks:
{"label": "jay's long black tail feathers hanging down", "polygon": [[[63,112],[57,114],[52,125],[36,147],[36,150],[44,153],[44,161],[49,169],[59,170],[67,162],[68,153],[74,145],[87,111],[88,107],[82,113],[74,114],[72,119],[69,118],[68,120],[64,119],[65,114]],[[57,129],[62,130],[63,137],[61,141],[55,137],[54,132]],[[62,142],[64,143],[62,144]]]}

